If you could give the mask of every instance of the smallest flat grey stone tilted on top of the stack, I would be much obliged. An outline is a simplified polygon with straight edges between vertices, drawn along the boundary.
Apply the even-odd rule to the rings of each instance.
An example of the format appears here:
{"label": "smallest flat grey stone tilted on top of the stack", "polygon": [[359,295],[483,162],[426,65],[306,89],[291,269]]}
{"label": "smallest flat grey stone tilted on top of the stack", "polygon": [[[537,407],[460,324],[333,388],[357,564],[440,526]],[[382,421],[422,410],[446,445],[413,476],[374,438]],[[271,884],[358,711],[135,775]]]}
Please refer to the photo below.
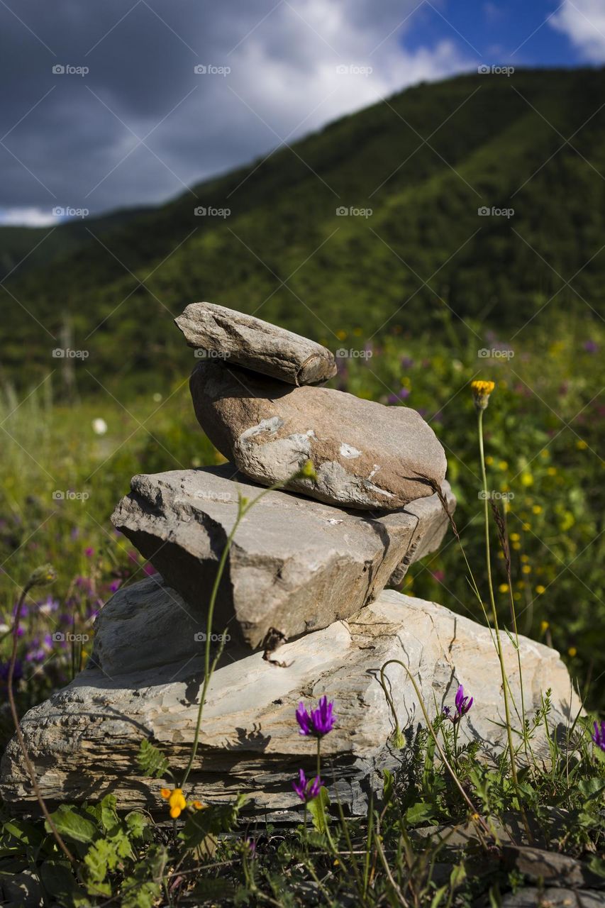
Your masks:
{"label": "smallest flat grey stone tilted on top of the stack", "polygon": [[174,321],[190,347],[290,385],[321,384],[336,374],[330,350],[253,315],[192,302]]}

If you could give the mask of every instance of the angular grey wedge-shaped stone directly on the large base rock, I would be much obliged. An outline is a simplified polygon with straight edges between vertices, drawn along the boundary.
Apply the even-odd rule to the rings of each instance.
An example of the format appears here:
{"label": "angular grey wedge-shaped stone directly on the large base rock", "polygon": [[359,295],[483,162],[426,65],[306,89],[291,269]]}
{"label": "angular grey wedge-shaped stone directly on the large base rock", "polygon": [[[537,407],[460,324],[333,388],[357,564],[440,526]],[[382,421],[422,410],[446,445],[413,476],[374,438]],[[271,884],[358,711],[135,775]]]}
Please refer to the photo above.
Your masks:
{"label": "angular grey wedge-shaped stone directly on the large base rock", "polygon": [[[263,498],[243,518],[229,553],[215,627],[261,646],[270,628],[298,637],[349,617],[395,573],[436,548],[448,518],[436,495],[373,517],[282,491],[266,491],[232,465],[135,476],[114,526],[205,615],[218,559],[237,515],[238,491]],[[443,486],[454,501],[447,484]],[[424,500],[427,504],[424,505]],[[427,541],[428,540],[428,541]]]}

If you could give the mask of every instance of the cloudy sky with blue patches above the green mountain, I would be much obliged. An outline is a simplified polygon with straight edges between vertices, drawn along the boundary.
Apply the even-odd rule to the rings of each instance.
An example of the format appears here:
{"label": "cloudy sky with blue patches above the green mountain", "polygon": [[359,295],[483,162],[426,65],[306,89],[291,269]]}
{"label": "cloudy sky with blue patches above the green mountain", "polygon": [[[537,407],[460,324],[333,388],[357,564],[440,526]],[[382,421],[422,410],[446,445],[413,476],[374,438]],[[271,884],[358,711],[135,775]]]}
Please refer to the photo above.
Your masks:
{"label": "cloudy sky with blue patches above the green mountain", "polygon": [[407,85],[605,64],[605,0],[0,0],[0,223],[164,202]]}

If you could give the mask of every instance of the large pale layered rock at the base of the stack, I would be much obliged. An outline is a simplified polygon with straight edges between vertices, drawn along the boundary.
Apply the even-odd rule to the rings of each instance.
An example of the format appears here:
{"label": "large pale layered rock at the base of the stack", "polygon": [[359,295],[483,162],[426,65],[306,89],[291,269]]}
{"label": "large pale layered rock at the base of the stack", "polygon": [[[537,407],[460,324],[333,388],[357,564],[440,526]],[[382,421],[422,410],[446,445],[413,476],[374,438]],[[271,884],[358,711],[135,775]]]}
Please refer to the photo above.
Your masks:
{"label": "large pale layered rock at the base of the stack", "polygon": [[[158,584],[160,586],[158,587]],[[95,644],[84,672],[22,719],[25,744],[35,766],[42,794],[50,804],[98,799],[108,791],[120,809],[146,807],[166,815],[160,796],[163,783],[139,775],[136,752],[144,736],[163,749],[177,774],[188,760],[203,681],[201,643],[188,636],[176,653],[166,640],[164,656],[177,656],[161,665],[161,645],[151,635],[143,645],[148,665],[134,670],[130,651],[141,648],[141,628],[151,619],[149,597],[160,595],[161,579],[153,578],[116,594],[97,618],[96,639],[105,643],[124,637],[120,656],[107,659]],[[174,594],[164,588],[156,599],[153,620],[158,630],[174,619]],[[121,608],[121,605],[124,606]],[[174,620],[174,635],[180,624]],[[110,627],[114,626],[113,630]],[[198,648],[196,649],[195,646]],[[459,743],[481,741],[481,754],[494,758],[506,746],[501,672],[488,628],[449,609],[387,590],[348,621],[282,646],[283,666],[263,660],[261,653],[243,658],[230,651],[215,672],[203,713],[198,758],[185,794],[203,803],[250,795],[247,810],[270,819],[296,816],[301,804],[291,780],[302,767],[314,772],[315,741],[298,734],[294,711],[326,695],[334,701],[337,722],[322,740],[322,755],[332,803],[338,796],[353,814],[367,808],[371,788],[380,790],[382,767],[402,764],[392,741],[394,722],[379,682],[380,669],[400,659],[417,680],[430,716],[453,706],[457,686],[474,696],[471,711],[459,726]],[[512,721],[521,728],[521,692],[517,653],[502,637]],[[565,734],[568,717],[580,703],[570,703],[570,676],[558,653],[520,638],[521,666],[527,715],[541,705],[541,694],[552,691],[549,725]],[[235,661],[233,661],[233,658]],[[110,671],[106,669],[110,668]],[[402,666],[384,669],[386,684],[400,727],[408,741],[423,725],[422,710]],[[548,760],[548,747],[539,725],[532,750]],[[0,795],[14,812],[36,809],[35,795],[15,739],[1,767]]]}

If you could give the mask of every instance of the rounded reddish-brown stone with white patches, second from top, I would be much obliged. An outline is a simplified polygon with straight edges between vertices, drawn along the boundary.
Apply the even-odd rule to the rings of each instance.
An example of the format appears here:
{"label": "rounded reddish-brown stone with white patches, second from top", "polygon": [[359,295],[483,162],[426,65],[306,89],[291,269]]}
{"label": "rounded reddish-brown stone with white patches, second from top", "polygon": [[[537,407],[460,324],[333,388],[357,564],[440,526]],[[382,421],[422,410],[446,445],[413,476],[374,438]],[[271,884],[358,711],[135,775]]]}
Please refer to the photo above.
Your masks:
{"label": "rounded reddish-brown stone with white patches, second from top", "polygon": [[328,388],[281,382],[204,361],[190,380],[198,422],[223,455],[265,486],[307,460],[317,479],[286,488],[342,508],[397,510],[441,485],[446,460],[422,416]]}

